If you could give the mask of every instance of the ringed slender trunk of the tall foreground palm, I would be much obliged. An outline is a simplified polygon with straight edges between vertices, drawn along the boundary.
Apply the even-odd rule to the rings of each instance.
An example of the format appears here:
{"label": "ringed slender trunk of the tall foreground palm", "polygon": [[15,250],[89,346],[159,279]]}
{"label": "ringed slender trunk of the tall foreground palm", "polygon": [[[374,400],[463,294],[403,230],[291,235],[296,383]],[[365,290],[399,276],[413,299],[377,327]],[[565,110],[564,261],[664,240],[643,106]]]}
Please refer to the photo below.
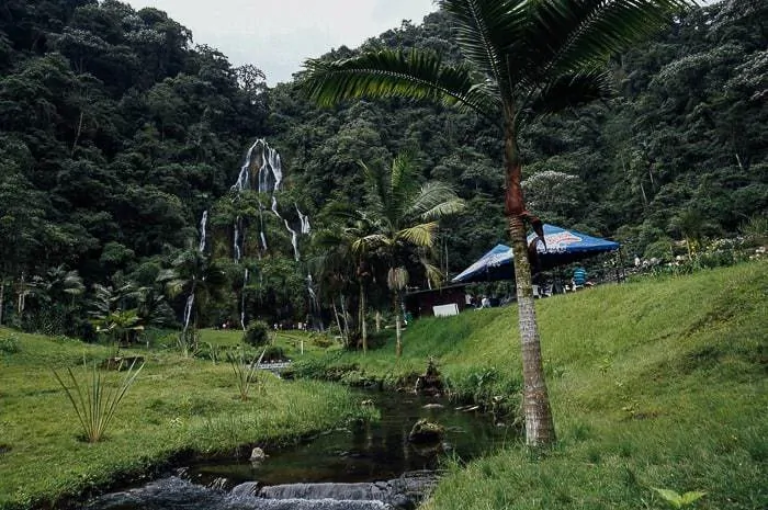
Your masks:
{"label": "ringed slender trunk of the tall foreground palm", "polygon": [[[508,118],[511,118],[508,117]],[[523,400],[526,416],[526,443],[529,446],[547,446],[555,441],[555,427],[546,393],[544,366],[541,358],[539,325],[533,303],[533,282],[528,260],[526,225],[523,223],[523,197],[520,163],[513,127],[505,129],[505,163],[507,168],[507,193],[505,214],[509,222],[509,236],[515,254],[515,279],[517,282],[518,315],[520,328]]]}

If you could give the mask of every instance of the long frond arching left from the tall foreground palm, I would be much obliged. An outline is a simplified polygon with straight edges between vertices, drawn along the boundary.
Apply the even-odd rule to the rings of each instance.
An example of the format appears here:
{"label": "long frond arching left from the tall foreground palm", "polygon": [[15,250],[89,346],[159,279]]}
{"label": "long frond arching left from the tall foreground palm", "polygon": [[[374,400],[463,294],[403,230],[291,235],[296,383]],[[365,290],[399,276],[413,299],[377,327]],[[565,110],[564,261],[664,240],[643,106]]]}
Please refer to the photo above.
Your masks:
{"label": "long frond arching left from the tall foreground palm", "polygon": [[466,66],[443,65],[428,50],[382,49],[337,61],[309,59],[300,87],[318,104],[348,99],[408,98],[471,110],[497,121],[498,99],[476,87]]}

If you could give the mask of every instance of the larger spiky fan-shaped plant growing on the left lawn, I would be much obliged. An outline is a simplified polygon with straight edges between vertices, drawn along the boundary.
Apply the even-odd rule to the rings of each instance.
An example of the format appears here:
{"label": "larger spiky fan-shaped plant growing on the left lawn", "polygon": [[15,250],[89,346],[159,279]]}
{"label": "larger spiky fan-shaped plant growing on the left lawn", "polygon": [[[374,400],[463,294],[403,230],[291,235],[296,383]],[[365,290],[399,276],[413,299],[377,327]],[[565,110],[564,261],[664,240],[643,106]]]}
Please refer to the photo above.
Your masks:
{"label": "larger spiky fan-shaped plant growing on the left lawn", "polygon": [[[75,408],[83,437],[89,443],[99,442],[104,437],[120,403],[144,369],[144,363],[137,369],[135,365],[134,361],[124,374],[111,376],[103,375],[97,369],[95,363],[89,369],[88,363],[83,360],[81,381],[78,381],[72,370],[67,367],[69,376],[67,382],[70,383],[70,386],[67,386],[58,372],[54,371],[56,381],[67,393],[67,397]],[[120,373],[118,371],[117,374]]]}

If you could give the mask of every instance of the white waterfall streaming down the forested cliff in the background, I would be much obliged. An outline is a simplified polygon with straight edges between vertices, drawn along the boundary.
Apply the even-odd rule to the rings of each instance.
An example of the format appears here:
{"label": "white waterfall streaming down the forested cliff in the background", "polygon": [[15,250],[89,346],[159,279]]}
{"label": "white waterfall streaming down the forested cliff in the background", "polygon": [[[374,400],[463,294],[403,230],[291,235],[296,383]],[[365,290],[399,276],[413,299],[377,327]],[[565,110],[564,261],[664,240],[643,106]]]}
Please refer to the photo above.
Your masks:
{"label": "white waterfall streaming down the forested cliff in the background", "polygon": [[[258,170],[256,170],[258,168]],[[256,173],[256,179],[253,179],[252,173]],[[253,186],[251,183],[256,182]],[[280,159],[280,154],[270,147],[270,145],[263,139],[259,138],[248,148],[242,166],[240,167],[240,172],[237,175],[237,181],[231,186],[231,191],[235,192],[235,199],[240,197],[240,193],[246,190],[253,190],[259,193],[257,197],[259,204],[259,240],[261,241],[261,249],[258,251],[258,257],[261,258],[261,253],[268,250],[267,246],[267,235],[264,234],[264,205],[261,203],[262,194],[270,194],[270,211],[278,217],[285,229],[291,234],[291,246],[293,247],[294,260],[298,261],[301,259],[301,252],[298,251],[298,236],[308,235],[310,231],[309,217],[301,212],[298,204],[294,203],[296,213],[298,214],[300,227],[298,230],[291,227],[291,224],[286,218],[280,214],[280,208],[278,204],[278,192],[280,191],[281,183],[283,182],[283,169]],[[246,225],[241,216],[235,219],[234,224],[234,246],[233,254],[235,263],[240,263],[245,253],[246,248]],[[245,290],[248,285],[249,272],[245,268],[242,271],[242,288]],[[312,288],[312,283],[308,285],[309,293],[309,308],[310,315],[314,317],[319,310],[319,306],[316,306],[317,297]],[[246,330],[247,317],[246,317],[246,301],[245,292],[241,291],[240,294],[240,327]]]}

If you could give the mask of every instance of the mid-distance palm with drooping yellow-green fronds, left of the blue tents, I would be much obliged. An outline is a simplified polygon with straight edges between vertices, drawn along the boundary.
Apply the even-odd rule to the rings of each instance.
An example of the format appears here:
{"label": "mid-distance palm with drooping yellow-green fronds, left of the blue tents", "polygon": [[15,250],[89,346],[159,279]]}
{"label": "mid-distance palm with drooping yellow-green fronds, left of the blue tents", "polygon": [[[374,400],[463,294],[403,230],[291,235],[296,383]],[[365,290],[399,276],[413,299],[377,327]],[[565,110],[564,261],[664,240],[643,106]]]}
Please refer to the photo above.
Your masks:
{"label": "mid-distance palm with drooping yellow-green fronds, left of the blue tents", "polygon": [[[362,161],[359,165],[365,174],[369,194],[368,208],[358,212],[358,216],[361,220],[364,219],[373,233],[364,234],[352,241],[351,248],[359,260],[363,261],[369,257],[381,258],[388,268],[387,286],[394,297],[399,358],[403,353],[402,298],[408,284],[407,258],[413,254],[413,249],[431,249],[436,240],[438,220],[463,211],[465,204],[447,184],[430,181],[419,185],[416,166],[409,152],[396,156],[389,171],[371,169]],[[419,261],[428,279],[441,279],[439,269],[430,264],[425,257],[419,257]],[[359,277],[361,286],[364,285],[366,277]],[[361,293],[364,306],[364,292]]]}

